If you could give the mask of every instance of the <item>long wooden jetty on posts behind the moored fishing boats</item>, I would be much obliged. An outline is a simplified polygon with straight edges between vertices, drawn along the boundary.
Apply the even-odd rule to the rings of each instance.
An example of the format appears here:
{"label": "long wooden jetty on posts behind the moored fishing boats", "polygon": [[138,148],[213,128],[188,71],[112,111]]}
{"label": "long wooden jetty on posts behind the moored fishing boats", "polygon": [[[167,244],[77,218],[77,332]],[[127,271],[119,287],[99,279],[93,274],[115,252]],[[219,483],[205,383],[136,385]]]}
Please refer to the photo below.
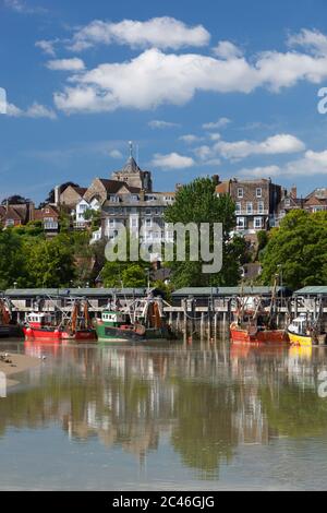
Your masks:
{"label": "long wooden jetty on posts behind the moored fishing boats", "polygon": [[[70,312],[76,299],[88,301],[92,317],[99,317],[108,301],[116,298],[124,307],[135,298],[144,298],[147,288],[65,288],[65,289],[8,289],[1,293],[8,301],[12,317],[24,322],[32,311]],[[153,289],[152,294],[160,295]],[[237,298],[261,297],[269,300],[272,287],[191,287],[172,293],[165,307],[169,323],[184,337],[216,337],[226,333],[237,310]],[[286,287],[276,288],[278,327],[290,319],[305,313],[319,319],[320,330],[327,331],[327,286],[305,287],[292,293]]]}

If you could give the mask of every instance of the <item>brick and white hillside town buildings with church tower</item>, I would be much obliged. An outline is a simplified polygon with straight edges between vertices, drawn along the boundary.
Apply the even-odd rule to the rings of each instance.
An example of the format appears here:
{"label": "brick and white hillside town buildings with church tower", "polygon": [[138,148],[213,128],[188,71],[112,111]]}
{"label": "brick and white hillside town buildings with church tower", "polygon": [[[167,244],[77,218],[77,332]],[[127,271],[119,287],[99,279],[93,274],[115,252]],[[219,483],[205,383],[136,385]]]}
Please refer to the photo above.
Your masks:
{"label": "brick and white hillside town buildings with church tower", "polygon": [[[278,227],[291,211],[327,211],[326,187],[299,196],[296,186],[288,191],[270,178],[220,180],[218,175],[211,178],[217,195],[229,194],[235,204],[234,231],[251,243],[257,242],[258,231]],[[165,237],[165,211],[174,202],[177,191],[183,186],[177,183],[174,191],[156,191],[153,181],[152,171],[138,167],[130,145],[130,156],[122,168],[107,177],[94,178],[89,187],[72,182],[57,184],[53,201],[38,207],[33,201],[21,196],[3,200],[0,223],[5,229],[41,222],[47,237],[53,237],[59,232],[61,211],[69,214],[72,230],[90,230],[93,214],[97,213],[99,227],[92,231],[90,242],[113,238],[120,226],[131,231],[143,227],[146,240],[159,242]],[[19,203],[12,202],[15,198],[21,198]]]}

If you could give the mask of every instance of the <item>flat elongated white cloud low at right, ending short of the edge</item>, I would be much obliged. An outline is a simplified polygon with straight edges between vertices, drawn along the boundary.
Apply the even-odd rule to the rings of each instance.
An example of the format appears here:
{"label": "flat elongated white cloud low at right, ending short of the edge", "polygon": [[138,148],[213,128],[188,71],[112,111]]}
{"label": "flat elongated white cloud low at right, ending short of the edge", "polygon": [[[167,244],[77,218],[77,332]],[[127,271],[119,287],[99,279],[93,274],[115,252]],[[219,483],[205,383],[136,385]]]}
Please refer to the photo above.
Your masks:
{"label": "flat elongated white cloud low at right, ending short of the edge", "polygon": [[214,150],[225,158],[245,158],[250,155],[278,155],[286,153],[302,152],[305,145],[294,135],[280,133],[266,139],[263,142],[256,141],[219,141],[214,145]]}

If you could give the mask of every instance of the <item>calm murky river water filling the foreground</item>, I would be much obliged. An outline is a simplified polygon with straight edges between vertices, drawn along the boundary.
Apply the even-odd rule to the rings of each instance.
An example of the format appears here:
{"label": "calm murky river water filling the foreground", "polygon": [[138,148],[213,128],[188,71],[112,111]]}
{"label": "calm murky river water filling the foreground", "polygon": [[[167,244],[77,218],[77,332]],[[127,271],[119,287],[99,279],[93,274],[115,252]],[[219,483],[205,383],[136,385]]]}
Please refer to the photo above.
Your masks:
{"label": "calm murky river water filling the foreground", "polygon": [[0,348],[47,357],[0,398],[1,490],[327,488],[327,348]]}

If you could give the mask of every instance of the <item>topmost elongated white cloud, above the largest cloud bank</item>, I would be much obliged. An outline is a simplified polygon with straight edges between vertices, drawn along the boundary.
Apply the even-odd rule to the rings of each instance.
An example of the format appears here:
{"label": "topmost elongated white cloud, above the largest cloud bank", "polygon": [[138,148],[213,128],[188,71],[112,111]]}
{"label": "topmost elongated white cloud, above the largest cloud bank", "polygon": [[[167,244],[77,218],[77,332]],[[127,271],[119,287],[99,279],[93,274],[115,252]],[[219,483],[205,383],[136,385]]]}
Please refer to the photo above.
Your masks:
{"label": "topmost elongated white cloud, above the largest cloud bank", "polygon": [[202,47],[209,43],[210,35],[202,26],[190,27],[173,17],[153,17],[146,22],[123,20],[119,23],[95,20],[78,29],[69,48],[81,51],[99,44],[129,45],[132,48]]}

